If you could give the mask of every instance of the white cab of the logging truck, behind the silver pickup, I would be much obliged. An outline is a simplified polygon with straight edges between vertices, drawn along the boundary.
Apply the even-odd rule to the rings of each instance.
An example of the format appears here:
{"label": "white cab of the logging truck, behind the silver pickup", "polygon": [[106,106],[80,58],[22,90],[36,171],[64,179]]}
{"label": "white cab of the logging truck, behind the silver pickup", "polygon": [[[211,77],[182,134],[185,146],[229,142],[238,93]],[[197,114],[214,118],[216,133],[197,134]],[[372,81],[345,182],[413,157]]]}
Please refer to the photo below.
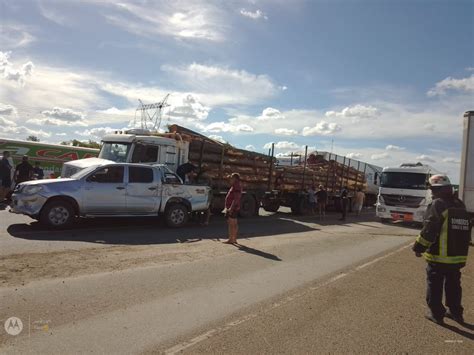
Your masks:
{"label": "white cab of the logging truck, behind the silver pickup", "polygon": [[175,172],[187,161],[189,143],[179,136],[167,138],[147,130],[116,131],[102,139],[98,159],[71,161],[63,165],[61,177],[69,177],[80,170],[104,162],[163,164]]}

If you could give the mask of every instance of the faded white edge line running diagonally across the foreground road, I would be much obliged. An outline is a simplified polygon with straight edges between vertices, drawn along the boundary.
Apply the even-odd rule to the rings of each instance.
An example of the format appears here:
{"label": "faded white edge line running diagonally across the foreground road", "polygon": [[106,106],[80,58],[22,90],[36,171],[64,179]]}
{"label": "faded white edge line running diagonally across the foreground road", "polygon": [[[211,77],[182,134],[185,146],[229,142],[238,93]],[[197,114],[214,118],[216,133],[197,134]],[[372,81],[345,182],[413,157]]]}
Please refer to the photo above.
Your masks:
{"label": "faded white edge line running diagonally across the foreground road", "polygon": [[204,340],[207,340],[207,339],[209,339],[209,338],[211,338],[211,337],[213,337],[213,336],[215,336],[215,335],[218,335],[218,334],[220,334],[220,333],[223,333],[223,332],[229,330],[229,329],[232,328],[232,327],[235,327],[235,326],[237,326],[237,325],[239,325],[239,324],[245,323],[245,322],[247,322],[247,321],[249,321],[249,320],[251,320],[251,319],[257,318],[259,315],[269,313],[270,311],[272,311],[272,310],[274,310],[274,309],[276,309],[276,308],[279,308],[279,307],[284,306],[284,305],[286,305],[286,304],[288,304],[288,303],[290,303],[290,302],[292,302],[292,301],[294,301],[294,300],[297,300],[297,299],[299,299],[299,298],[305,296],[306,294],[308,294],[309,291],[314,291],[314,290],[318,290],[318,289],[320,289],[320,288],[326,287],[326,286],[328,286],[328,285],[330,285],[330,284],[336,282],[337,280],[340,280],[340,279],[346,277],[347,275],[350,275],[350,274],[352,274],[352,273],[355,273],[355,272],[357,272],[357,271],[359,271],[359,270],[364,269],[364,268],[367,267],[367,266],[373,265],[373,264],[375,264],[375,263],[377,263],[377,262],[379,262],[379,261],[381,261],[381,260],[383,260],[383,259],[386,259],[386,258],[388,258],[388,257],[390,257],[390,256],[392,256],[392,255],[394,255],[394,254],[397,254],[397,253],[401,252],[402,250],[407,249],[407,248],[410,247],[411,245],[412,245],[412,243],[410,242],[410,244],[407,244],[407,245],[405,245],[405,246],[403,246],[403,247],[401,247],[401,248],[399,248],[399,249],[397,249],[397,250],[395,250],[395,251],[393,251],[393,252],[390,252],[390,253],[388,253],[388,254],[386,254],[386,255],[383,255],[383,256],[381,256],[381,257],[375,258],[375,259],[373,259],[373,260],[371,260],[371,261],[369,261],[369,262],[367,262],[367,263],[365,263],[365,264],[362,264],[362,265],[360,265],[360,266],[357,266],[357,267],[355,267],[354,269],[351,269],[351,270],[347,271],[346,273],[340,273],[340,274],[338,274],[338,275],[336,275],[336,276],[330,278],[329,280],[327,280],[327,281],[325,281],[325,282],[323,282],[323,283],[321,283],[321,284],[319,284],[319,285],[317,285],[317,286],[310,287],[310,288],[308,288],[306,291],[303,291],[303,292],[298,293],[298,294],[293,295],[293,296],[288,296],[288,297],[285,298],[283,301],[275,302],[275,303],[273,303],[270,307],[268,307],[267,309],[265,309],[265,310],[263,310],[263,311],[261,311],[261,312],[259,312],[259,313],[251,313],[251,314],[246,315],[246,316],[244,316],[244,317],[242,317],[242,318],[239,318],[239,319],[237,319],[237,320],[235,320],[235,321],[233,321],[233,322],[227,323],[226,325],[224,325],[224,326],[222,326],[222,327],[217,327],[217,328],[211,329],[211,330],[209,330],[209,331],[207,331],[207,332],[205,332],[205,333],[203,333],[203,334],[198,335],[197,337],[195,337],[195,338],[193,338],[193,339],[191,339],[191,340],[189,340],[189,341],[185,341],[185,342],[179,343],[179,344],[177,344],[177,345],[175,345],[175,346],[173,346],[173,347],[171,347],[171,348],[165,350],[165,354],[167,354],[167,355],[173,355],[173,354],[180,353],[180,352],[182,352],[182,351],[184,351],[184,350],[186,350],[186,349],[188,349],[188,348],[190,348],[190,347],[192,347],[192,346],[194,346],[194,345],[196,345],[196,344],[198,344],[198,343],[200,343],[200,342],[202,342],[202,341],[204,341]]}

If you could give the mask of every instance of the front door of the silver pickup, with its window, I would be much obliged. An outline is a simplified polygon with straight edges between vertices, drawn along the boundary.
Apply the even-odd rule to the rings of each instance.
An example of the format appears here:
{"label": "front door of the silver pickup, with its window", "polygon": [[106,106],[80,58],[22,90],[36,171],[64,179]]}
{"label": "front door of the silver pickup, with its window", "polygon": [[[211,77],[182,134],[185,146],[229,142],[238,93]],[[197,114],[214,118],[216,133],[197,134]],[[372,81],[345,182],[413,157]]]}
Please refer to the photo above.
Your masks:
{"label": "front door of the silver pickup, with its window", "polygon": [[89,175],[82,187],[82,212],[126,214],[124,166],[106,166]]}

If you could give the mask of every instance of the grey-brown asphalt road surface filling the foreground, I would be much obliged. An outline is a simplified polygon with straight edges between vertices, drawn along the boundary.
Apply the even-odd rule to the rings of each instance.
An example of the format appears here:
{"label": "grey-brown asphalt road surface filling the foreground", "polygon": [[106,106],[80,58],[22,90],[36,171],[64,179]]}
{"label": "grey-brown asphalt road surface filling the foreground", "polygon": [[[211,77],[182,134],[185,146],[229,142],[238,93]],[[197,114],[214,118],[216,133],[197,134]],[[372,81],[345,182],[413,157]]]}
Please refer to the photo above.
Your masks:
{"label": "grey-brown asphalt road surface filling the foreground", "polygon": [[[219,242],[225,237],[220,217],[206,228],[170,230],[153,219],[122,219],[83,221],[50,232],[2,211],[0,320],[18,317],[23,330],[17,336],[0,331],[0,352],[378,351],[377,341],[385,344],[385,338],[355,347],[346,333],[359,328],[357,323],[348,328],[344,319],[393,316],[384,300],[397,303],[393,296],[407,291],[403,280],[415,269],[422,278],[423,266],[407,257],[415,266],[402,263],[400,271],[387,262],[406,253],[400,248],[417,230],[382,225],[370,214],[343,224],[336,217],[321,223],[278,213],[242,220],[240,245],[230,246]],[[369,270],[385,274],[376,277]],[[398,283],[385,284],[386,275]],[[345,293],[337,290],[342,286]],[[422,311],[418,296],[424,286],[418,286],[410,293],[413,303],[397,308],[400,314]],[[375,297],[379,288],[385,291]],[[318,292],[324,297],[314,297]],[[379,300],[375,310],[365,308],[371,297]],[[288,314],[294,314],[291,324],[285,321]],[[315,347],[320,341],[308,330],[314,329],[311,315],[319,317],[318,329],[339,341]],[[365,329],[377,328],[370,320]]]}

